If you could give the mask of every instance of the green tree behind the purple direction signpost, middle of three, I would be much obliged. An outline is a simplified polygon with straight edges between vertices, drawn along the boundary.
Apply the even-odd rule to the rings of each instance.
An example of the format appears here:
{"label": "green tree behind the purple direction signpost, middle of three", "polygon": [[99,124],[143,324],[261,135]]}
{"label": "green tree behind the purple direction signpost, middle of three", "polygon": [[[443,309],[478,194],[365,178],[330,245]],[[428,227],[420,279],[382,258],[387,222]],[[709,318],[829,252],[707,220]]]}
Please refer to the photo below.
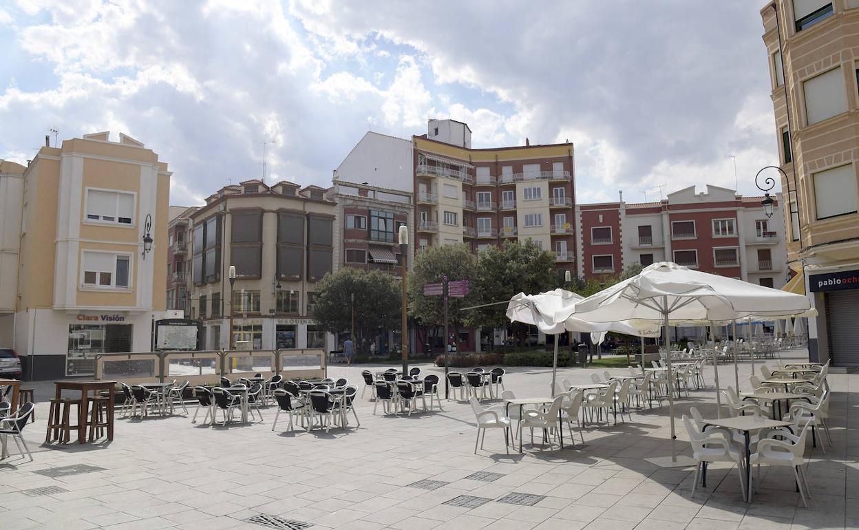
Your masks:
{"label": "green tree behind the purple direction signpost, middle of three", "polygon": [[[465,245],[444,245],[442,247],[427,247],[417,253],[414,266],[409,273],[407,285],[409,295],[409,314],[417,326],[422,326],[423,339],[426,341],[430,328],[436,331],[436,326],[444,325],[444,305],[442,296],[424,296],[423,285],[426,283],[442,283],[442,277],[448,280],[468,280],[470,291],[465,298],[448,299],[448,320],[453,332],[459,336],[459,328],[464,323],[465,315],[460,308],[475,305],[474,285],[477,279],[477,259]],[[444,343],[442,343],[444,344]]]}

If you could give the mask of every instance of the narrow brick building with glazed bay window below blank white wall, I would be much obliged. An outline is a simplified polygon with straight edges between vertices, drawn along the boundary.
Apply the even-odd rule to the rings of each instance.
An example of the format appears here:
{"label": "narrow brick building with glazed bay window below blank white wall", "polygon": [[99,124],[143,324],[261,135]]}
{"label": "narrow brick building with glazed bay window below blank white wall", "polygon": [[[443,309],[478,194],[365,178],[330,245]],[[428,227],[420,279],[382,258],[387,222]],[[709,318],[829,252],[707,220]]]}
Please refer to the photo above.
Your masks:
{"label": "narrow brick building with glazed bay window below blank white wall", "polygon": [[[338,180],[327,197],[337,203],[334,270],[352,267],[401,277],[403,256],[398,235],[400,226],[412,224],[411,193]],[[410,245],[407,252],[409,267],[414,246]]]}

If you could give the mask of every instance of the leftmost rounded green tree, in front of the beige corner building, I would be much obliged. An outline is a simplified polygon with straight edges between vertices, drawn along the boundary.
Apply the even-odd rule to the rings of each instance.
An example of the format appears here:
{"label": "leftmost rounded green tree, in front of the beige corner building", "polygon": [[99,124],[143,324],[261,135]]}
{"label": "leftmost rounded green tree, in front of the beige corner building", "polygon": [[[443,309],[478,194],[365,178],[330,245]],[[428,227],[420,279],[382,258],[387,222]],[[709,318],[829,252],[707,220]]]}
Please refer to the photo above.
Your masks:
{"label": "leftmost rounded green tree, in front of the beige corner building", "polygon": [[369,340],[380,330],[399,329],[402,300],[399,282],[382,271],[344,267],[326,274],[316,286],[311,316],[327,332],[350,331],[351,297],[355,296],[355,340],[359,351],[369,351]]}

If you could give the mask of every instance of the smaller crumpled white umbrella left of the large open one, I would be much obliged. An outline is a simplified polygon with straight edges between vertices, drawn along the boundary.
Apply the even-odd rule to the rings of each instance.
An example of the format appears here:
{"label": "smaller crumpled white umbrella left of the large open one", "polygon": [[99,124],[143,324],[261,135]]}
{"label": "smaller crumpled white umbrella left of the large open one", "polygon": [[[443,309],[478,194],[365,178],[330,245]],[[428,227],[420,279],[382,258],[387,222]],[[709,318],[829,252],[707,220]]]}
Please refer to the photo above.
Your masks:
{"label": "smaller crumpled white umbrella left of the large open one", "polygon": [[[511,322],[522,322],[537,326],[540,332],[555,335],[555,353],[551,367],[551,396],[555,397],[555,380],[557,375],[558,338],[564,332],[618,332],[637,337],[658,337],[660,324],[648,321],[637,322],[589,322],[578,318],[553,320],[555,315],[571,311],[576,302],[581,301],[581,295],[576,295],[565,289],[554,289],[539,293],[539,295],[514,295],[507,304],[507,318]],[[593,337],[593,335],[592,335]],[[600,341],[594,342],[598,344]]]}

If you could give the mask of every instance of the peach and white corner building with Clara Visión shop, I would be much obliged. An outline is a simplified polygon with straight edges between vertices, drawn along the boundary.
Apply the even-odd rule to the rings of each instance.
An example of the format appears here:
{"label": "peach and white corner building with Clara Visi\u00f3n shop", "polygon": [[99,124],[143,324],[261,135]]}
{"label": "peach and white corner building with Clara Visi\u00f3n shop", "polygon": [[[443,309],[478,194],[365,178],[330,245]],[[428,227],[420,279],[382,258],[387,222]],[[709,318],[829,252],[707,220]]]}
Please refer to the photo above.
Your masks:
{"label": "peach and white corner building with Clara Visi\u00f3n shop", "polygon": [[143,143],[109,136],[46,142],[26,168],[0,166],[0,344],[27,379],[92,375],[98,353],[151,350],[170,172]]}

